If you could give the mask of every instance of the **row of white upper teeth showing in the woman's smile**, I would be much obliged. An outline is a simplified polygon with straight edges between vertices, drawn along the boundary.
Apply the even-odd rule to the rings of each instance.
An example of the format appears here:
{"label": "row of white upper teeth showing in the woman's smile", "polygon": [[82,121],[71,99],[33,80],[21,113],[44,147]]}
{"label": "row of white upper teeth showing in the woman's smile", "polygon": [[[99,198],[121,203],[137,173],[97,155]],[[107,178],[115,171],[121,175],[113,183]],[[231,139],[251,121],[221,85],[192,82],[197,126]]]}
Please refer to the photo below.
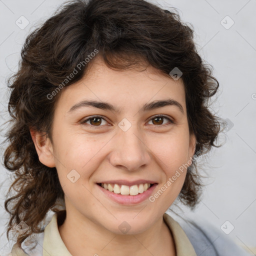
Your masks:
{"label": "row of white upper teeth showing in the woman's smile", "polygon": [[143,193],[150,187],[150,183],[145,184],[137,184],[132,186],[127,185],[118,185],[118,184],[106,184],[100,183],[102,187],[105,189],[114,192],[116,194],[129,194],[129,195],[136,195],[138,193]]}

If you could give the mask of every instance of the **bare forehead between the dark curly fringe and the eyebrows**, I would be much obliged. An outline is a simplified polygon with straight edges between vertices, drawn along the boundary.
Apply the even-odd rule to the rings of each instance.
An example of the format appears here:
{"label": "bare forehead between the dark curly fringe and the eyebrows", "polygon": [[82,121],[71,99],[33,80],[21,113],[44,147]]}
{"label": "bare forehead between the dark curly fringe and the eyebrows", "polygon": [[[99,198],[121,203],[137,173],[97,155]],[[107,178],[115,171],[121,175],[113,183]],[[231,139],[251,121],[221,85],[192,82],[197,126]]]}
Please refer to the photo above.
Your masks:
{"label": "bare forehead between the dark curly fringe and the eyebrows", "polygon": [[135,110],[149,101],[171,98],[179,102],[185,111],[182,79],[173,80],[152,66],[143,69],[113,70],[97,58],[88,66],[82,79],[61,91],[58,105],[67,111],[68,107],[81,100],[96,100],[109,102],[121,112]]}

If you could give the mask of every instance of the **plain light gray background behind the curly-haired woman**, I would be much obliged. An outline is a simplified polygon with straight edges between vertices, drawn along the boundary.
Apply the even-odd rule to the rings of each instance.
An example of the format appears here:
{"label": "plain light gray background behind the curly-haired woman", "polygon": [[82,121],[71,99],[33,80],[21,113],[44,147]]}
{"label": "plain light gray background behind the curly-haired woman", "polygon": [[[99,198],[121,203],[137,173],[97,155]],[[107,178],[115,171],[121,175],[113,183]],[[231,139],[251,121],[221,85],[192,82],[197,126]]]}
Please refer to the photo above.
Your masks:
{"label": "plain light gray background behind the curly-haired woman", "polygon": [[[0,123],[8,119],[6,77],[17,70],[25,37],[51,16],[62,0],[0,0]],[[181,18],[193,25],[200,55],[214,67],[220,90],[212,111],[228,118],[224,145],[213,149],[201,163],[203,196],[194,212],[181,205],[175,210],[193,218],[203,218],[220,229],[228,220],[234,229],[228,234],[236,243],[256,253],[256,0],[165,0],[153,1],[174,6]],[[21,29],[15,24],[23,15],[29,24]],[[226,17],[226,16],[229,17]],[[221,22],[222,20],[222,22]],[[232,24],[234,24],[228,28]],[[222,23],[222,24],[221,24]],[[24,24],[24,21],[22,22]],[[225,27],[224,27],[224,26]],[[228,28],[228,29],[226,29]],[[233,124],[230,125],[230,124]],[[232,126],[232,127],[231,127]],[[0,139],[6,127],[1,126]],[[2,157],[3,148],[0,148]],[[201,161],[201,162],[203,162]],[[1,160],[2,162],[2,160]],[[3,209],[9,186],[5,169],[0,166],[0,255],[7,243]],[[227,226],[228,228],[230,226]]]}

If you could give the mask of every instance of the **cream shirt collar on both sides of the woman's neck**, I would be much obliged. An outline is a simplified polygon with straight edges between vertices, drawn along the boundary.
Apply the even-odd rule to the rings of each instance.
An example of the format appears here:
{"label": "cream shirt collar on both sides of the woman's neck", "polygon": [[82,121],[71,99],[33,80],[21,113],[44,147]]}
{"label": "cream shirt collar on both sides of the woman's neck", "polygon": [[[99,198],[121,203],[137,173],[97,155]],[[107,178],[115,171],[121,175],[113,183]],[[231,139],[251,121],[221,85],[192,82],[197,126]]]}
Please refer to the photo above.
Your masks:
{"label": "cream shirt collar on both sides of the woman's neck", "polygon": [[[176,256],[196,256],[194,248],[186,236],[185,232],[179,225],[179,223],[174,220],[167,213],[163,214],[163,220],[169,227],[175,247],[176,247]],[[43,236],[43,244],[42,244],[42,255],[41,254],[31,254],[29,255],[38,255],[38,256],[72,256],[71,253],[67,250],[64,242],[61,239],[61,236],[58,231],[57,225],[57,214],[54,213],[50,222],[44,228],[44,236]],[[40,245],[41,247],[41,245]],[[11,250],[12,256],[27,256],[23,249],[14,244]]]}

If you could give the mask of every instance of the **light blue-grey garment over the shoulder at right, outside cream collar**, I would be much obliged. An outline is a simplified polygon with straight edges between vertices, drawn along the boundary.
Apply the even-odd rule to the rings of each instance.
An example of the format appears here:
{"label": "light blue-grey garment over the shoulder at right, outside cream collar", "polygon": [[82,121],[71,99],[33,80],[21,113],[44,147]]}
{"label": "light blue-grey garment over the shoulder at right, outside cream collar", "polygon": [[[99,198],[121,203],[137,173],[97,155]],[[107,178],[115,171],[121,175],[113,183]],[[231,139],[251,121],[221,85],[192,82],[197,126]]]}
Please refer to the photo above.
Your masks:
{"label": "light blue-grey garment over the shoulder at right, outside cream collar", "polygon": [[249,252],[237,245],[228,235],[223,233],[220,229],[218,230],[205,219],[172,217],[184,230],[197,255],[251,255]]}

